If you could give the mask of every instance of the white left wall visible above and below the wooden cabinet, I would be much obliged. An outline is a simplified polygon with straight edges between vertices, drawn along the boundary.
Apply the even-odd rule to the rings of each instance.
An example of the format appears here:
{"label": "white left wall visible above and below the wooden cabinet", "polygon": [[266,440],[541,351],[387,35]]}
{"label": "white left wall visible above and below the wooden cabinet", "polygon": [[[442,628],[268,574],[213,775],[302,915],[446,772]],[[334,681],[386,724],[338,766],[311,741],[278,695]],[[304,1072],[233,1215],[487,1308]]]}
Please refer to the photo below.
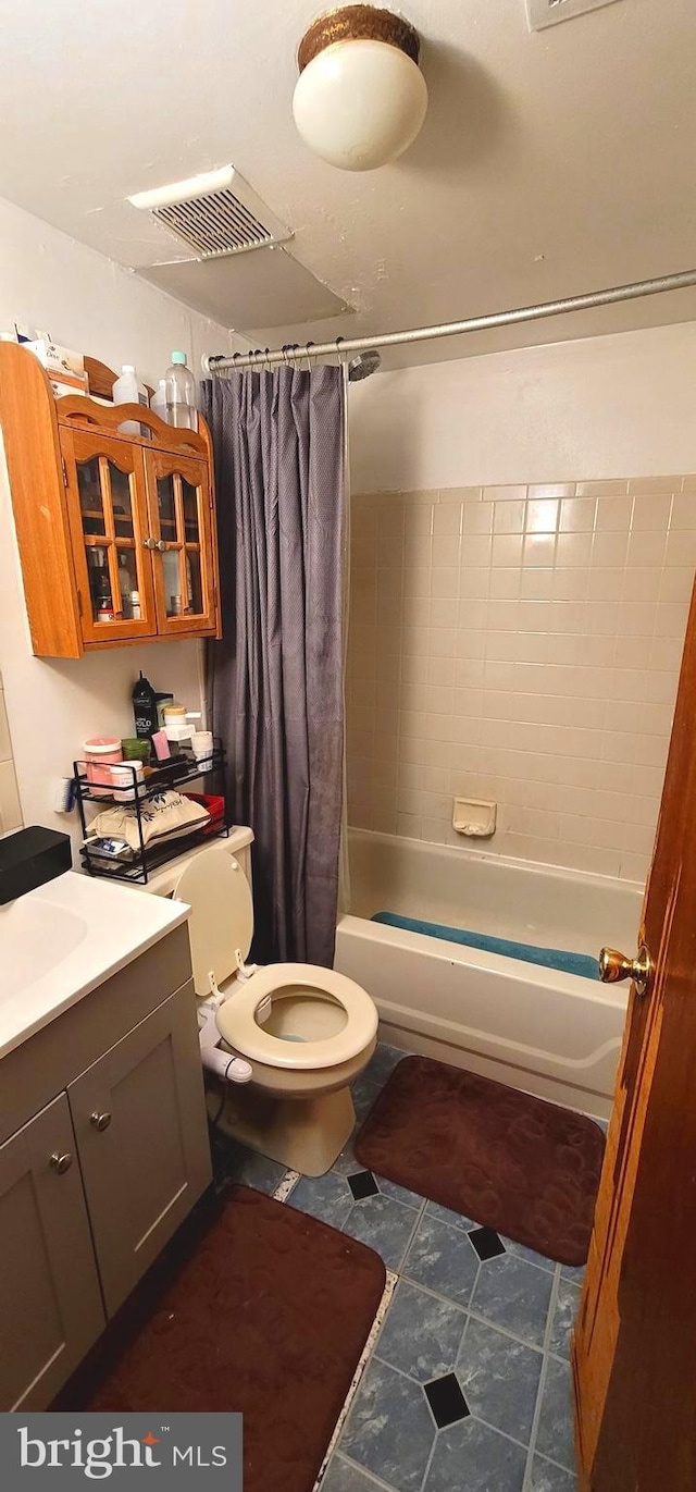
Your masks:
{"label": "white left wall visible above and below the wooden cabinet", "polygon": [[[110,367],[136,363],[154,383],[173,348],[200,376],[203,352],[230,334],[162,295],[103,255],[0,201],[0,328],[39,327]],[[122,648],[77,661],[34,658],[30,649],[4,463],[0,468],[0,671],[25,824],[76,827],[52,812],[55,779],[70,770],[85,736],[130,734],[130,691],[142,668],[155,688],[200,698],[198,645]],[[0,825],[1,828],[1,825]]]}

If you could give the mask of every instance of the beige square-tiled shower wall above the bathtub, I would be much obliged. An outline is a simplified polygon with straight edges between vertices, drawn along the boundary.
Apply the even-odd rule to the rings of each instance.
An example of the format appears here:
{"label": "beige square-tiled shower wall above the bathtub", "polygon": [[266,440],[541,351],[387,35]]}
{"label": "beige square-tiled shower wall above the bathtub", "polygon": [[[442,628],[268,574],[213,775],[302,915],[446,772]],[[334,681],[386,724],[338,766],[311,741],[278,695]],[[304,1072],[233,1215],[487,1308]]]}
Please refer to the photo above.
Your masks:
{"label": "beige square-tiled shower wall above the bathtub", "polygon": [[695,476],[353,497],[350,824],[642,879],[695,564]]}

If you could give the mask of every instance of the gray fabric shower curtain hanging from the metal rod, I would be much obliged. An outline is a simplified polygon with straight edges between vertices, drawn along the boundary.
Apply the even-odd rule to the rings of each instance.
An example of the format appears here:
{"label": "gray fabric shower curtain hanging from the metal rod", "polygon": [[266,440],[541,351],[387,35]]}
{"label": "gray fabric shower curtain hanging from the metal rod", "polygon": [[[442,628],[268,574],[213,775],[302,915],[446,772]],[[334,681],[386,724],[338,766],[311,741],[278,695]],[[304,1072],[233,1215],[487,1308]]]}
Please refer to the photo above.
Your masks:
{"label": "gray fabric shower curtain hanging from the metal rod", "polygon": [[341,370],[203,385],[218,491],[222,642],[212,727],[250,824],[259,962],[331,967],[343,798]]}

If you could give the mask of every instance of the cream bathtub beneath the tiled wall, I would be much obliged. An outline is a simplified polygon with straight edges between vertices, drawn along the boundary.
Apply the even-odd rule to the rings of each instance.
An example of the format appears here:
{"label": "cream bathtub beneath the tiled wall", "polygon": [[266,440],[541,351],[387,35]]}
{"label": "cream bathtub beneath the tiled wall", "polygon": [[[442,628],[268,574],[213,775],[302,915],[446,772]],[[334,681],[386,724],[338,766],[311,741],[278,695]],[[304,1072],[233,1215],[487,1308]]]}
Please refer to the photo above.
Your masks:
{"label": "cream bathtub beneath the tiled wall", "polygon": [[371,922],[393,912],[575,953],[632,953],[636,882],[350,831],[350,913],[335,968],[373,995],[382,1037],[607,1118],[627,986]]}

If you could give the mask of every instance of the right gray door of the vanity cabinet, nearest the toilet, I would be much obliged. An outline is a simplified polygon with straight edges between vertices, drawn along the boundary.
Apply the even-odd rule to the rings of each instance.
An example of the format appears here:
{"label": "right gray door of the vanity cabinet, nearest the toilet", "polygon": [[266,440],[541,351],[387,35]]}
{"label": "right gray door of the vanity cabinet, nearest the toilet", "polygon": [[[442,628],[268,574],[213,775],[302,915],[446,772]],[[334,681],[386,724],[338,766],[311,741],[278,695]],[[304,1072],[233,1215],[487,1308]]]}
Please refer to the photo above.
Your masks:
{"label": "right gray door of the vanity cabinet, nearest the toilet", "polygon": [[210,1180],[192,985],[67,1092],[112,1316]]}

